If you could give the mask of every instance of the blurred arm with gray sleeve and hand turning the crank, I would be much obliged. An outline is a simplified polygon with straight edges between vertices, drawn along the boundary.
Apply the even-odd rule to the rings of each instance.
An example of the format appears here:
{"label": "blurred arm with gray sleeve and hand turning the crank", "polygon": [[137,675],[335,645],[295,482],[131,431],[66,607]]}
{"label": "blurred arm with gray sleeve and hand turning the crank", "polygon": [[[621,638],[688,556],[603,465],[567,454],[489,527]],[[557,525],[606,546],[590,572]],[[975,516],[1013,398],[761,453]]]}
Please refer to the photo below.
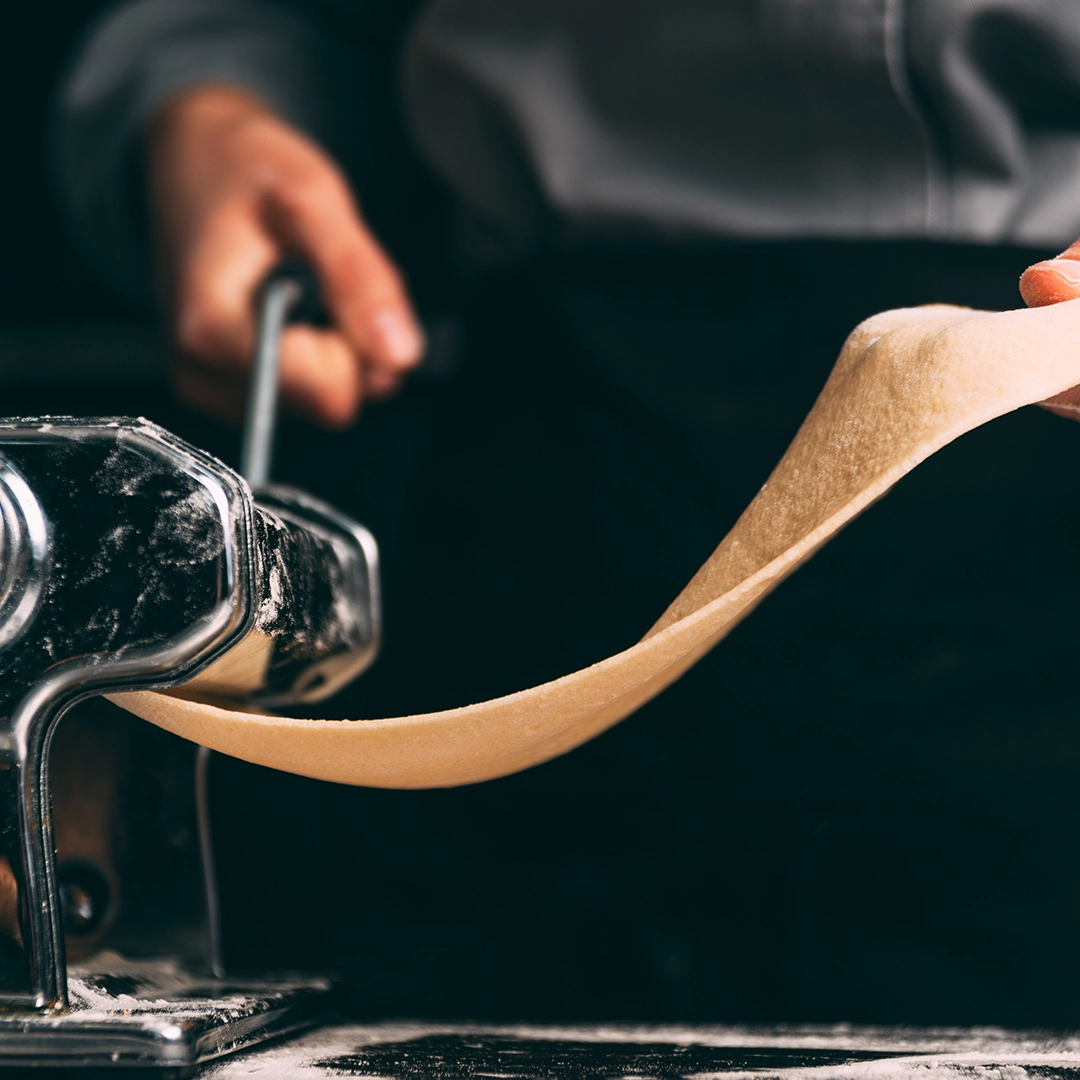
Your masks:
{"label": "blurred arm with gray sleeve and hand turning the crank", "polygon": [[346,424],[422,351],[400,275],[321,146],[341,55],[270,4],[140,0],[96,29],[59,95],[57,185],[76,235],[129,293],[157,278],[177,390],[226,419],[242,408],[254,292],[283,255],[312,264],[335,323],[286,334],[295,410]]}

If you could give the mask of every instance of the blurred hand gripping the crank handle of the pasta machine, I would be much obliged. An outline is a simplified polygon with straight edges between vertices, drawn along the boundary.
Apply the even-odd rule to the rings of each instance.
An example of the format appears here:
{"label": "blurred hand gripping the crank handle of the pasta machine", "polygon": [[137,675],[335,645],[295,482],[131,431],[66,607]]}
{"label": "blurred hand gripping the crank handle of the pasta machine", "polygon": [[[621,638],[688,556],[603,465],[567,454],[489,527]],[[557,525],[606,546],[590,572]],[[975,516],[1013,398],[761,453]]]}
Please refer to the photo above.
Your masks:
{"label": "blurred hand gripping the crank handle of the pasta machine", "polygon": [[177,394],[238,422],[255,340],[254,297],[286,255],[314,270],[333,326],[282,338],[286,407],[329,428],[386,397],[423,354],[401,274],[326,153],[265,105],[205,86],[148,131],[151,216],[179,355]]}

